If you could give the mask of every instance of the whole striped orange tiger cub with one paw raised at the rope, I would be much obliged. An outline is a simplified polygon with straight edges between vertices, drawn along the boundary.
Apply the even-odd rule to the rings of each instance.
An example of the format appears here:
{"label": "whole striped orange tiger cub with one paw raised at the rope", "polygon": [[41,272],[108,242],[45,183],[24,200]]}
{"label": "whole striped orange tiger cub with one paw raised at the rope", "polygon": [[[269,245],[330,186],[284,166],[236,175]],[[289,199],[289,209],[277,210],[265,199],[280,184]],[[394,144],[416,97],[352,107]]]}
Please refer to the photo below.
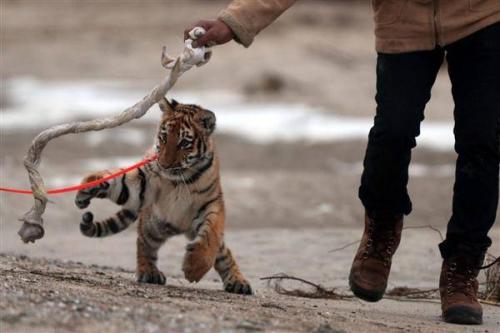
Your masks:
{"label": "whole striped orange tiger cub with one paw raised at the rope", "polygon": [[[91,212],[82,216],[81,232],[105,237],[126,229],[139,219],[137,280],[165,284],[156,266],[158,249],[170,237],[189,239],[182,270],[190,282],[198,282],[212,266],[224,289],[252,294],[229,248],[224,244],[224,201],[219,179],[219,161],[211,137],[215,115],[196,105],[163,99],[156,152],[158,158],[121,178],[80,190],[75,204],[89,206],[93,198],[108,198],[123,206],[115,216],[94,221]],[[83,183],[100,179],[112,171],[99,171]]]}

